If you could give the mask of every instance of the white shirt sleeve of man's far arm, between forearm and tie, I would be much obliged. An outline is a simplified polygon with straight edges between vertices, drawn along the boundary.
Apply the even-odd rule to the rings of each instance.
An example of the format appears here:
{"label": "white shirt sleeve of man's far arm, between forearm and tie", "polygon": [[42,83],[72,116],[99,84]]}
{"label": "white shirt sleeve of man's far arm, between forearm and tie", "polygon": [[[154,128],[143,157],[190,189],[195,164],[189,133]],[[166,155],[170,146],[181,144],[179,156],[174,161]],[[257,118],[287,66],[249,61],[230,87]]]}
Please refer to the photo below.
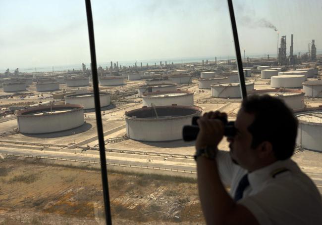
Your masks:
{"label": "white shirt sleeve of man's far arm, between forearm and tie", "polygon": [[219,176],[222,183],[230,187],[235,165],[233,164],[228,151],[218,151],[216,156],[216,162],[218,166]]}

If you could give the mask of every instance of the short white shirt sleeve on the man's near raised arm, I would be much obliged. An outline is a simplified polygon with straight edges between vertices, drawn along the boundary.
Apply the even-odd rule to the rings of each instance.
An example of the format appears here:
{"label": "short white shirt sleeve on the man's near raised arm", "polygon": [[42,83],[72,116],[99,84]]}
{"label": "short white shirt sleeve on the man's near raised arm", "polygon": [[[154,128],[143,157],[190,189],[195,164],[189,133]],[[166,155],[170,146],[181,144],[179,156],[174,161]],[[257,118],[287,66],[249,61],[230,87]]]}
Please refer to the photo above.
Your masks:
{"label": "short white shirt sleeve on the man's near raised arm", "polygon": [[319,196],[297,187],[296,183],[284,181],[267,184],[265,189],[241,199],[238,204],[251,211],[261,225],[322,224]]}

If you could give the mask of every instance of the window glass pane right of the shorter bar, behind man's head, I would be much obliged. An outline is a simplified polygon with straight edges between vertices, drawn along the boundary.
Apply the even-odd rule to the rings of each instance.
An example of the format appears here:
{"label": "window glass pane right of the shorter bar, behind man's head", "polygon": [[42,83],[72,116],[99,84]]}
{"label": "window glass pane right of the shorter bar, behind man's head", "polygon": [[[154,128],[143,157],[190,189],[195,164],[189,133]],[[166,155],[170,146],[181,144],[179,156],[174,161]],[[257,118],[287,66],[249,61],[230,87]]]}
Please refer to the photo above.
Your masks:
{"label": "window glass pane right of the shorter bar, behind man's head", "polygon": [[294,111],[299,127],[293,160],[322,192],[322,2],[236,0],[234,8],[243,66],[252,71],[246,82],[256,89],[248,94],[276,96]]}

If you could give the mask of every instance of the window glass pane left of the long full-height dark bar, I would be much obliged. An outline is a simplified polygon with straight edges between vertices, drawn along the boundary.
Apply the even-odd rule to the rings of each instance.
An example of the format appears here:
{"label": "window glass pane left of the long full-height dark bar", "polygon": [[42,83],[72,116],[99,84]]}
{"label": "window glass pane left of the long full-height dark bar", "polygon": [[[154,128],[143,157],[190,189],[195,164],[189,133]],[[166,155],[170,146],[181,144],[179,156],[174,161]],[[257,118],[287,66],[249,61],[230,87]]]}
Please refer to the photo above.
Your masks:
{"label": "window glass pane left of the long full-height dark bar", "polygon": [[103,224],[85,4],[0,8],[0,224]]}

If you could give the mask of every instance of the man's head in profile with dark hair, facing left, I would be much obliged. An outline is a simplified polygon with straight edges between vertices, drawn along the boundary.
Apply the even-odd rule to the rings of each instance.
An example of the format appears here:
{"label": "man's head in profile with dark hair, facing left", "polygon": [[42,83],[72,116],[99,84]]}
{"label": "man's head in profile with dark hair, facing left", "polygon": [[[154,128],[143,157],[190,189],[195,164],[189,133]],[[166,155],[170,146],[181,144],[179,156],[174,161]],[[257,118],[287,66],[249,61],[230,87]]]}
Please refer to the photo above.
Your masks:
{"label": "man's head in profile with dark hair, facing left", "polygon": [[230,142],[234,162],[253,171],[294,152],[297,120],[283,101],[269,95],[252,95],[242,102]]}

